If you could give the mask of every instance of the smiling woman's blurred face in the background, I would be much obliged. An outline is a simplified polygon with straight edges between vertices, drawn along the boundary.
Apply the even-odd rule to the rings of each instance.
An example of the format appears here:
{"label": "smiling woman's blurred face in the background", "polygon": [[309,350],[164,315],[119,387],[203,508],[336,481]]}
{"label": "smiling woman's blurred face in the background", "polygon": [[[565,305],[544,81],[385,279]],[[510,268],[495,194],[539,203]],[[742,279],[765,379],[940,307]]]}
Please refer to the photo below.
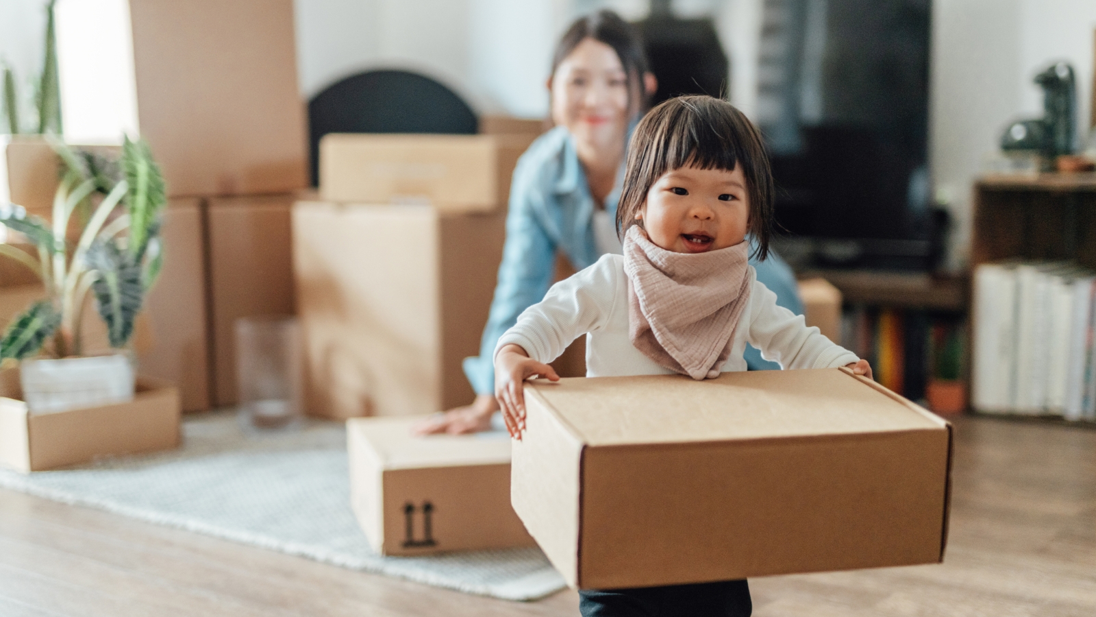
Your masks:
{"label": "smiling woman's blurred face in the background", "polygon": [[576,141],[620,147],[628,124],[628,76],[613,47],[584,38],[548,81],[551,117]]}

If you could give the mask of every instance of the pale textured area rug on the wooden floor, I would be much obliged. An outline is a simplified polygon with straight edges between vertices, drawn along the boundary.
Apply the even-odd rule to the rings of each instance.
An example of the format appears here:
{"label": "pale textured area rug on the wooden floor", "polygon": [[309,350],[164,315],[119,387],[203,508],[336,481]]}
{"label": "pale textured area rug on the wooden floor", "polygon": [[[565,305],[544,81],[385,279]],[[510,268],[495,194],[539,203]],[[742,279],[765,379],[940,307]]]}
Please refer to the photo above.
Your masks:
{"label": "pale textured area rug on the wooden floor", "polygon": [[471,594],[524,601],[564,586],[536,548],[373,552],[350,506],[342,425],[253,435],[219,412],[185,418],[183,435],[171,452],[32,474],[0,470],[0,486]]}

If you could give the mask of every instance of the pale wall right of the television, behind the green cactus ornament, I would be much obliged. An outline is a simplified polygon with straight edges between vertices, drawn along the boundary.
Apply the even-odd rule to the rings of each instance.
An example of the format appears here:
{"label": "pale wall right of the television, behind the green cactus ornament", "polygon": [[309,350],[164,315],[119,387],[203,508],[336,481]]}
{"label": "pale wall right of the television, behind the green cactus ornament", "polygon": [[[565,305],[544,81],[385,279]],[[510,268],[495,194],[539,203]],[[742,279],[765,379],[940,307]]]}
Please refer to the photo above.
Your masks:
{"label": "pale wall right of the television, behind the green cactus ornament", "polygon": [[1051,61],[1073,64],[1087,134],[1094,29],[1093,0],[934,0],[929,165],[957,223],[952,268],[969,258],[973,182],[1009,121],[1042,115],[1031,78]]}

